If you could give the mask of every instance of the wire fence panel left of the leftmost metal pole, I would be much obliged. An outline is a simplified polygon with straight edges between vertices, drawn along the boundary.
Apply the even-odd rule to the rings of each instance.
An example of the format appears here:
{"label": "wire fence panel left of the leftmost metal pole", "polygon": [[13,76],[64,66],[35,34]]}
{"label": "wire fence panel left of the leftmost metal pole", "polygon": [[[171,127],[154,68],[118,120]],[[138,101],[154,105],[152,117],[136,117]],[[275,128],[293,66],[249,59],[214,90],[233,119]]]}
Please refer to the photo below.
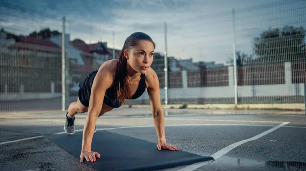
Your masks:
{"label": "wire fence panel left of the leftmost metal pole", "polygon": [[[69,99],[62,98],[61,18],[3,2],[0,11],[0,111],[61,109]],[[68,74],[68,61],[64,68]]]}

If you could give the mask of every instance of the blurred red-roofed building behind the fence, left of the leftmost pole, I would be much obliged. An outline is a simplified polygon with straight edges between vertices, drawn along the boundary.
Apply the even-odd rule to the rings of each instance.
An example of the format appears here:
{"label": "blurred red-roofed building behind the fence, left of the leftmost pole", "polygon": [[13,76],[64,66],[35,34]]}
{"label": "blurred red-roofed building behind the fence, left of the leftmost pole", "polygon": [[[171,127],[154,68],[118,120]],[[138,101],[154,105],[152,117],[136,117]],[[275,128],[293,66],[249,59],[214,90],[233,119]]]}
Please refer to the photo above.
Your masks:
{"label": "blurred red-roofed building behind the fence, left of the leftmost pole", "polygon": [[[61,48],[36,38],[1,29],[1,92],[60,92]],[[5,87],[5,88],[3,88]]]}

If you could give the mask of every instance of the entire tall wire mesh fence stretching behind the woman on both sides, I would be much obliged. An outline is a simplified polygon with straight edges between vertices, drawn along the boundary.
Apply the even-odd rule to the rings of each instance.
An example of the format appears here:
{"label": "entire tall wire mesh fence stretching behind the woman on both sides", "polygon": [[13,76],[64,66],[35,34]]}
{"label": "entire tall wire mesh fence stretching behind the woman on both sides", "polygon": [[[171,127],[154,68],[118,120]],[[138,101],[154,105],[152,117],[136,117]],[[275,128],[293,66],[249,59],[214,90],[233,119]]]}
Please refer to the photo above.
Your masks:
{"label": "entire tall wire mesh fence stretching behind the woman on both sides", "polygon": [[[139,31],[80,25],[8,3],[0,9],[0,111],[67,109],[80,81],[117,58],[123,39]],[[305,15],[305,1],[279,1],[167,21],[156,26],[160,32],[143,28],[153,39],[165,38],[154,39],[166,53],[156,52],[151,65],[162,103],[303,103]],[[150,103],[145,92],[126,104]]]}

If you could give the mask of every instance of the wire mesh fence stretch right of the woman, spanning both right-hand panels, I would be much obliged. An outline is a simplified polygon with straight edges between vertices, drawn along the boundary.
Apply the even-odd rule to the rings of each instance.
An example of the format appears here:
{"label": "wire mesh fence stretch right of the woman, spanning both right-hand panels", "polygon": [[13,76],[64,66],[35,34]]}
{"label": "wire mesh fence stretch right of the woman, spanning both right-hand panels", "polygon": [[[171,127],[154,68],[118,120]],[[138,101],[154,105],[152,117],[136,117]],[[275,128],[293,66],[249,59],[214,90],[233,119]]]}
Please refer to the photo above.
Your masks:
{"label": "wire mesh fence stretch right of the woman, spanning both right-hand panels", "polygon": [[[306,1],[279,1],[168,22],[167,37],[175,43],[167,53],[175,55],[168,56],[163,101],[304,103],[305,16]],[[163,88],[163,67],[155,69]]]}

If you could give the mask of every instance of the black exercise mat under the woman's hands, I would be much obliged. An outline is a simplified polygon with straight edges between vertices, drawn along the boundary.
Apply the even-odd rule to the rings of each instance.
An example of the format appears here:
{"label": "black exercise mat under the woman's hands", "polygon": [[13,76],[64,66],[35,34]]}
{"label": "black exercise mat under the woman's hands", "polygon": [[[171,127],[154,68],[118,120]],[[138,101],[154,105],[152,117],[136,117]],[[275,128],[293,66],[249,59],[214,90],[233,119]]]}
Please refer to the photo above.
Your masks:
{"label": "black exercise mat under the woman's hands", "polygon": [[[65,151],[80,160],[83,132],[73,135],[45,135]],[[92,140],[92,151],[100,154],[95,162],[86,162],[97,170],[154,170],[196,162],[210,161],[214,158],[188,153],[182,150],[170,151],[157,149],[157,144],[132,138],[130,136],[97,131]]]}

